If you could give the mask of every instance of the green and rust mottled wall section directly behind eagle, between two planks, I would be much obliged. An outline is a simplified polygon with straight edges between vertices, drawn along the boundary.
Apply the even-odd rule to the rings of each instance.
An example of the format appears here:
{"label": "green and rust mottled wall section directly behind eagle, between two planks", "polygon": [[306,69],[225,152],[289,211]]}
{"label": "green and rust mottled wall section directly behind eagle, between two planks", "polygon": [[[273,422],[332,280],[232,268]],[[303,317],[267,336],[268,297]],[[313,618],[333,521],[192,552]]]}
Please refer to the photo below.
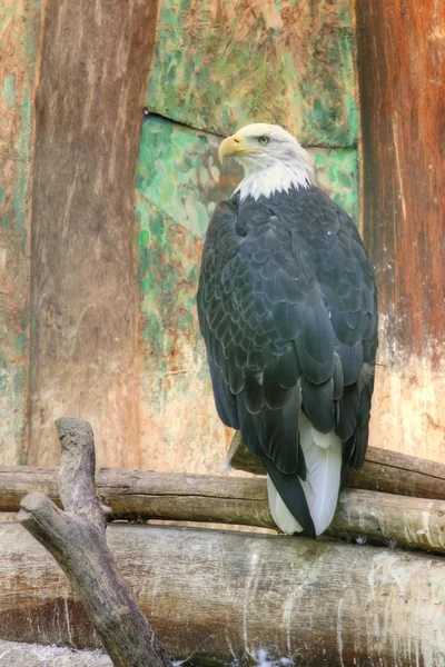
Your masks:
{"label": "green and rust mottled wall section directly behind eagle, between two planks", "polygon": [[195,293],[221,173],[220,136],[280,122],[310,148],[318,182],[355,217],[357,109],[349,0],[164,0],[137,170],[144,361],[142,459],[215,471],[230,434],[214,407]]}

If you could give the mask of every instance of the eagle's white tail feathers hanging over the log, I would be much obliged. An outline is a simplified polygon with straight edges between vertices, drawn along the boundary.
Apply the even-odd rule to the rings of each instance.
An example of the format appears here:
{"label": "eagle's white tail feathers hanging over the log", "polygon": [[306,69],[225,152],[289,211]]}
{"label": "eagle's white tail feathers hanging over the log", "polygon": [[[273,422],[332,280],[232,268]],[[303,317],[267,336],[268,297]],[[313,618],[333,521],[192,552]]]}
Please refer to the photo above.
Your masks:
{"label": "eagle's white tail feathers hanging over the log", "polygon": [[[342,474],[342,440],[334,432],[320,434],[300,415],[299,432],[307,476],[300,481],[313,517],[315,531],[322,535],[334,518]],[[287,509],[274,482],[267,476],[270,514],[283,532],[301,532],[303,528]]]}

